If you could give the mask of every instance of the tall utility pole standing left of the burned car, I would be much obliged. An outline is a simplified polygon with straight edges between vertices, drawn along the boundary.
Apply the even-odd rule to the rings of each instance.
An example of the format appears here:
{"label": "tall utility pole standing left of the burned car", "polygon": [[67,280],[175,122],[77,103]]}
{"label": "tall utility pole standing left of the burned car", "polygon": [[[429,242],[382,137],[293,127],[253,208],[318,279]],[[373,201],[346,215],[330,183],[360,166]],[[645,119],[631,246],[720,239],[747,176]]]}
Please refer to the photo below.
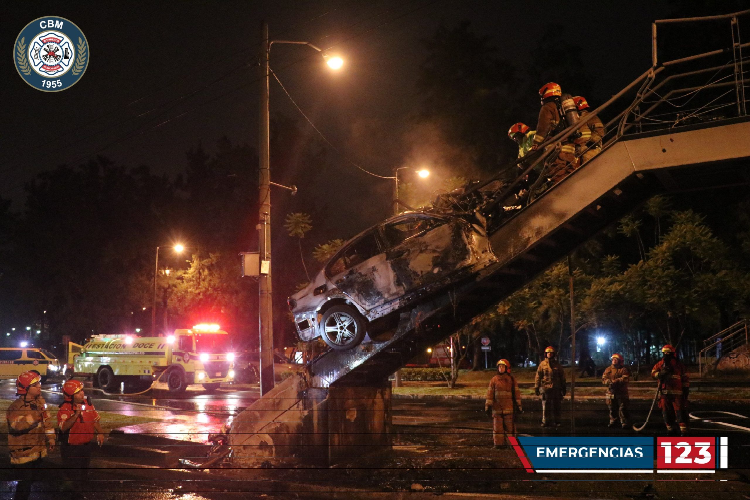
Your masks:
{"label": "tall utility pole standing left of the burned car", "polygon": [[[271,164],[269,137],[269,25],[263,21],[260,43],[260,114],[258,124],[258,331],[260,396],[274,388],[274,328],[271,300]],[[265,271],[265,273],[264,273]]]}

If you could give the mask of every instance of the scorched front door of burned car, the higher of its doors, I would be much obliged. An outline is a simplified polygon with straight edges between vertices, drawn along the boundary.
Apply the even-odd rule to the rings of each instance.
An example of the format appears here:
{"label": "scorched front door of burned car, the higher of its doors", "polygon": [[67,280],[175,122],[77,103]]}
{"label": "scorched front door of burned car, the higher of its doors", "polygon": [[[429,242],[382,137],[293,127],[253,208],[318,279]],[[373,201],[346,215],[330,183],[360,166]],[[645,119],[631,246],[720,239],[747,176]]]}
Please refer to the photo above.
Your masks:
{"label": "scorched front door of burned car, the higher of its doors", "polygon": [[386,258],[408,293],[446,279],[471,258],[463,222],[403,215],[383,224]]}

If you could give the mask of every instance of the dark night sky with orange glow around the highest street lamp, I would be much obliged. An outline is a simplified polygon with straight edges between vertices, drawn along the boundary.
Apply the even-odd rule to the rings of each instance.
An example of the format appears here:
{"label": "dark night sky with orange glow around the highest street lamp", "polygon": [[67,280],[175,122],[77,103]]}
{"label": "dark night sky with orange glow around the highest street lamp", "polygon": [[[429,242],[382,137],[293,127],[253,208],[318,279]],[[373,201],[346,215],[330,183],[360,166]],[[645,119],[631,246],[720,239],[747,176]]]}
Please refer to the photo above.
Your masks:
{"label": "dark night sky with orange glow around the highest street lamp", "polygon": [[[469,20],[475,32],[493,39],[505,59],[523,66],[547,26],[563,23],[596,75],[595,95],[606,98],[648,68],[650,22],[669,17],[674,4],[604,2],[600,11],[581,11],[580,5],[556,2],[549,9],[544,3],[452,0],[5,3],[0,196],[12,198],[20,209],[23,182],[56,164],[96,154],[175,175],[184,168],[184,153],[199,143],[211,152],[226,135],[256,146],[258,73],[251,62],[264,19],[272,38],[312,41],[345,59],[344,68],[332,72],[308,47],[276,46],[272,51],[272,69],[341,151],[381,175],[408,165],[450,176],[450,166],[439,164],[434,155],[427,158],[431,155],[425,156],[422,138],[407,129],[417,71],[426,54],[420,41],[433,35],[441,20],[449,26]],[[76,23],[90,45],[86,74],[63,92],[32,89],[11,59],[20,30],[46,15]],[[272,114],[301,118],[273,81],[271,94]],[[535,116],[519,119],[530,123]],[[359,172],[335,152],[329,163],[329,172],[315,187],[329,203],[328,222],[349,226],[344,232],[351,234],[383,218],[390,182]],[[284,172],[272,172],[272,179],[282,178]],[[353,211],[357,218],[351,218]]]}

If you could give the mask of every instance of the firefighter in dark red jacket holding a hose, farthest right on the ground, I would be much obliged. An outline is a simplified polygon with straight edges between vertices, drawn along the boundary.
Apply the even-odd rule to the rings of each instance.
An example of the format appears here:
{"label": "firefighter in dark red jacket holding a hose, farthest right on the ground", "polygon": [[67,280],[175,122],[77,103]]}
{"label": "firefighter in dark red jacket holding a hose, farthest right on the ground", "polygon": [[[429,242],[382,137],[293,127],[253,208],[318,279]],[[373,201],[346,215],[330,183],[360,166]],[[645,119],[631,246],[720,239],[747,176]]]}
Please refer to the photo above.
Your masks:
{"label": "firefighter in dark red jacket holding a hose, farthest right on the ground", "polygon": [[690,379],[685,366],[675,357],[675,349],[667,344],[661,348],[664,357],[656,363],[651,370],[651,378],[658,380],[661,398],[658,407],[661,408],[661,416],[667,432],[676,432],[675,419],[679,422],[679,434],[688,433],[687,402],[690,392]]}

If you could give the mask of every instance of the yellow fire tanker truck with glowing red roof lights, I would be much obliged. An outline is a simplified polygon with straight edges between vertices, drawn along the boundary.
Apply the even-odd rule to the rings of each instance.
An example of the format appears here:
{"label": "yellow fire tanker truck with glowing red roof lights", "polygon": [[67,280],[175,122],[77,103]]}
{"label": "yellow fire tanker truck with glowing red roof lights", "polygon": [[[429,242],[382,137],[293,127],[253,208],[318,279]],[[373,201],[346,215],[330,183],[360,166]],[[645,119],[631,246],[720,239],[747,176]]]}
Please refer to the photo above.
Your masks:
{"label": "yellow fire tanker truck with glowing red roof lights", "polygon": [[230,347],[229,334],[217,324],[175,330],[166,337],[92,336],[85,345],[69,343],[65,375],[93,378],[104,390],[115,390],[121,382],[145,388],[162,378],[172,393],[191,384],[214,391],[234,378]]}

